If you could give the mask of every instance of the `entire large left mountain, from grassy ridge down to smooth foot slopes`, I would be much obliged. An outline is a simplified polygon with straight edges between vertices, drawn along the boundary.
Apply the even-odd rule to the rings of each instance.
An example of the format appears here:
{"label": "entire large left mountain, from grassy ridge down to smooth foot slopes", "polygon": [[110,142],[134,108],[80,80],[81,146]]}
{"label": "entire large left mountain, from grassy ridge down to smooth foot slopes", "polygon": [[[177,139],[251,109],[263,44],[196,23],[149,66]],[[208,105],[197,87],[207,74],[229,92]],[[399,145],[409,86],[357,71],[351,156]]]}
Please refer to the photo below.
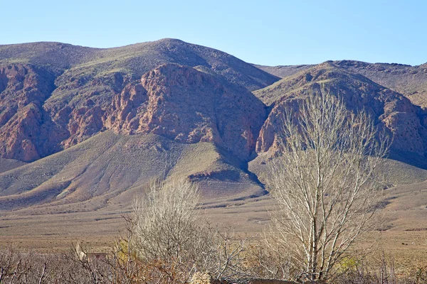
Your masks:
{"label": "entire large left mountain, from grassy ridge down to smooth foot slopes", "polygon": [[190,178],[204,197],[264,194],[247,162],[268,113],[251,90],[277,77],[171,39],[2,45],[0,55],[2,210],[128,205],[164,177]]}

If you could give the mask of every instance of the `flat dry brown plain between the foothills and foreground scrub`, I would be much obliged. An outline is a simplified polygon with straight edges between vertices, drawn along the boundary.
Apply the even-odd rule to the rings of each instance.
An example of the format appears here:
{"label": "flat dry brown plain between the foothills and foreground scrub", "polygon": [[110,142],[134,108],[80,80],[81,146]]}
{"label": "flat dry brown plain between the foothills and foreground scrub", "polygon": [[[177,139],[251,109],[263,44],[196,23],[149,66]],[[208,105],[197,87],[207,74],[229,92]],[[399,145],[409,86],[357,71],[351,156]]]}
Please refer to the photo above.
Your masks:
{"label": "flat dry brown plain between the foothills and foreground scrub", "polygon": [[[411,263],[427,261],[427,191],[423,190],[426,186],[426,182],[421,182],[386,190],[385,197],[396,196],[382,210],[386,230],[373,231],[367,236],[369,244],[378,241],[394,256],[396,266],[408,268]],[[204,203],[206,209],[202,214],[214,224],[258,236],[269,224],[269,211],[274,209],[268,195],[246,200],[217,198]],[[0,244],[14,242],[23,248],[55,251],[68,249],[71,241],[82,239],[89,247],[102,249],[124,229],[121,215],[129,212],[130,207],[114,206],[95,212],[63,214],[8,212],[0,217]]]}

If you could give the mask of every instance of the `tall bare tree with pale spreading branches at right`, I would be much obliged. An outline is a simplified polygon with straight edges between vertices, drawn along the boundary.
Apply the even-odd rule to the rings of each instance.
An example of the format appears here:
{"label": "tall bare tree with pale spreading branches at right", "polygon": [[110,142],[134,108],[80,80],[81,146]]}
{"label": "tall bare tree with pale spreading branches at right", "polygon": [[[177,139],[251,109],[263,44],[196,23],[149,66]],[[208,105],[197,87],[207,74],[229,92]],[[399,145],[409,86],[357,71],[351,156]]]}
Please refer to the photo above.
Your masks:
{"label": "tall bare tree with pale spreading branches at right", "polygon": [[370,227],[381,193],[374,173],[389,143],[364,111],[348,111],[328,92],[289,109],[269,182],[275,230],[301,278],[327,280]]}

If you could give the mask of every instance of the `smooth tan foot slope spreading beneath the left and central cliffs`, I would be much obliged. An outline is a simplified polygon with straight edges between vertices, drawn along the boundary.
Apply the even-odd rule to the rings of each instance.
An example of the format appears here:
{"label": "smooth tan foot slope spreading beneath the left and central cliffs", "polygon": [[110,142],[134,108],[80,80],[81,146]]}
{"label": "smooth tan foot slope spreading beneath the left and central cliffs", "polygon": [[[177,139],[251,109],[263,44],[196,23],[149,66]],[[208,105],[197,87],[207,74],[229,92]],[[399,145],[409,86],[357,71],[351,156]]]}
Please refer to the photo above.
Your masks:
{"label": "smooth tan foot slope spreading beneath the left and central cliffs", "polygon": [[205,198],[262,195],[263,189],[241,170],[241,161],[224,154],[213,143],[105,131],[1,173],[0,210],[32,207],[31,214],[45,214],[128,206],[155,178],[191,178]]}

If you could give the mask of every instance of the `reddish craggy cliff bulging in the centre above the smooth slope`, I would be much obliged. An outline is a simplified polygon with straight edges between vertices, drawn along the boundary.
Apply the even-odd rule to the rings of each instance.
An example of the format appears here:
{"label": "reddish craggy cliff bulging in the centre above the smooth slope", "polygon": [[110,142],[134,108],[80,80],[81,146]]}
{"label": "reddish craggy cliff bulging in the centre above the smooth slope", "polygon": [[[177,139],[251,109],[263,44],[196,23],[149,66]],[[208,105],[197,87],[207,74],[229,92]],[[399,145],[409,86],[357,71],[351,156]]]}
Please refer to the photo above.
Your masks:
{"label": "reddish craggy cliff bulging in the centre above the smooth slope", "polygon": [[236,92],[194,68],[167,64],[125,87],[104,121],[107,129],[124,133],[214,142],[246,160],[265,116],[263,103],[250,92]]}

